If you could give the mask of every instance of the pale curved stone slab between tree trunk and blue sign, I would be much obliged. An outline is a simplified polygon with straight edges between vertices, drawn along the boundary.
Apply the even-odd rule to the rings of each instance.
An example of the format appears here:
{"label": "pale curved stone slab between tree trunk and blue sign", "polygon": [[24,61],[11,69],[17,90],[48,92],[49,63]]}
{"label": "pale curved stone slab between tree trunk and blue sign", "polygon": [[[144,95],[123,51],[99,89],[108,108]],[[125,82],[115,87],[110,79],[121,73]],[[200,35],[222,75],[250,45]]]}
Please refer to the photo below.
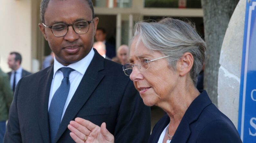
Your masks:
{"label": "pale curved stone slab between tree trunk and blue sign", "polygon": [[246,1],[240,0],[223,40],[218,76],[218,108],[237,128]]}

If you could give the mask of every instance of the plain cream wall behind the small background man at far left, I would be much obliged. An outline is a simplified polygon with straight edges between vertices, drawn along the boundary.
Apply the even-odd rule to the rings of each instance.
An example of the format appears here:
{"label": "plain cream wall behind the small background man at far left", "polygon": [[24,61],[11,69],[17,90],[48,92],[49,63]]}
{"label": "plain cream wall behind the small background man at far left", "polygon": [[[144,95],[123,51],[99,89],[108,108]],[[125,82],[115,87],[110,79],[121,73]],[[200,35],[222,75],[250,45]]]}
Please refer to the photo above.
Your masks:
{"label": "plain cream wall behind the small background man at far left", "polygon": [[0,0],[0,67],[10,71],[7,57],[10,52],[22,54],[22,66],[31,70],[31,3],[32,0]]}

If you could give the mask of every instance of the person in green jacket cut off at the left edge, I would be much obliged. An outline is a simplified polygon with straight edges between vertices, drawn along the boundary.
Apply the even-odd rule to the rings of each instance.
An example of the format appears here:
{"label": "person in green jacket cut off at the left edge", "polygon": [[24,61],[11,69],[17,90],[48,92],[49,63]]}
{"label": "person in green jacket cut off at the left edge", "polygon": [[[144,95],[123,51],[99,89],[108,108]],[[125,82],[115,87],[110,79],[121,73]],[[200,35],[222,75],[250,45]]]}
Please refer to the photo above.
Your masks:
{"label": "person in green jacket cut off at the left edge", "polygon": [[10,87],[9,77],[0,68],[0,143],[4,140],[6,120],[13,100],[13,91]]}

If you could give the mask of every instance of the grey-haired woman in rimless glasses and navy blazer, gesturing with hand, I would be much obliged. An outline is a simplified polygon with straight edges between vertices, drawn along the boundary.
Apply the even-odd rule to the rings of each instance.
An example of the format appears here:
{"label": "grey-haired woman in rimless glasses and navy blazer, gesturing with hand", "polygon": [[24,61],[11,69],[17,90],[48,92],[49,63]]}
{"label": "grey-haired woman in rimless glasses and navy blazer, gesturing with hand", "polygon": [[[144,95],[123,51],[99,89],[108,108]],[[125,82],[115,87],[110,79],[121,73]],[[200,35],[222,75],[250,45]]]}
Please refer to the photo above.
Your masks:
{"label": "grey-haired woman in rimless glasses and navy blazer, gesturing with hand", "polygon": [[[164,115],[148,143],[242,143],[231,120],[196,89],[206,45],[188,23],[166,18],[138,22],[131,41],[129,62],[123,66],[147,106],[161,107]],[[71,121],[71,137],[77,143],[114,143],[106,123]],[[138,129],[134,127],[135,131]]]}

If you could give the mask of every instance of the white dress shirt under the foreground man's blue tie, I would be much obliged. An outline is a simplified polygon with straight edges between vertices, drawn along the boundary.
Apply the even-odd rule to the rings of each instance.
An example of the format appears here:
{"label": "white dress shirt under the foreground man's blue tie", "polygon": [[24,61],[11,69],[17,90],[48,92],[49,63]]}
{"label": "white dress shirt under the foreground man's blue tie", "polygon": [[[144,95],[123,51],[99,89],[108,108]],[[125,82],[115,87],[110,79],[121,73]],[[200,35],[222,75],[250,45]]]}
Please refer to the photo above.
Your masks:
{"label": "white dress shirt under the foreground man's blue tie", "polygon": [[[69,94],[66,100],[66,103],[63,108],[62,112],[62,117],[61,120],[64,116],[64,113],[69,105],[69,102],[71,101],[79,83],[82,80],[83,75],[85,74],[92,58],[94,56],[94,51],[93,48],[89,52],[89,54],[84,57],[82,60],[72,63],[68,65],[67,67],[74,69],[69,75],[69,81],[70,81],[70,90]],[[48,111],[51,105],[52,97],[54,93],[57,91],[57,89],[60,87],[62,79],[63,79],[63,74],[59,70],[60,68],[65,67],[61,63],[59,63],[56,58],[54,57],[54,66],[53,66],[53,77],[52,77],[52,84],[51,84],[51,90],[50,90],[50,95],[49,95],[49,102],[48,102]]]}

